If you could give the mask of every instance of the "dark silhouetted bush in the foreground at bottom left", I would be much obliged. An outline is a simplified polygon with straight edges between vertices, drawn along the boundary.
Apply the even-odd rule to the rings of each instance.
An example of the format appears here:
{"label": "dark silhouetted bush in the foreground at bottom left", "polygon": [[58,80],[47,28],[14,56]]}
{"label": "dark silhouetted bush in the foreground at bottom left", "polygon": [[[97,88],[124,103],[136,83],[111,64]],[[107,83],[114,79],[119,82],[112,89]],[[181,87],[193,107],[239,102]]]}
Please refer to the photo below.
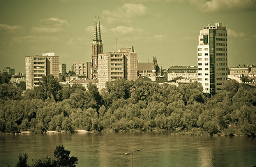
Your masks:
{"label": "dark silhouetted bush in the foreground at bottom left", "polygon": [[45,157],[45,159],[38,159],[33,161],[33,164],[29,166],[28,159],[29,156],[24,153],[20,154],[19,160],[15,167],[75,167],[77,166],[77,157],[69,157],[70,151],[65,150],[63,145],[56,146],[54,150],[55,159],[51,159],[50,157]]}

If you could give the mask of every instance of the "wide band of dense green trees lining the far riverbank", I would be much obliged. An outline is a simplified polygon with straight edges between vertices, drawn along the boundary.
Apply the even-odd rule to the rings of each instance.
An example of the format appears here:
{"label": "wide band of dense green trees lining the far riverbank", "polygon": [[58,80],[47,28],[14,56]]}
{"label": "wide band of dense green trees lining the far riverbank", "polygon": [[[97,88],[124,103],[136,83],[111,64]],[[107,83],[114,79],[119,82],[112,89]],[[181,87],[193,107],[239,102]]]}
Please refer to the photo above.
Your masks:
{"label": "wide band of dense green trees lining the far riverbank", "polygon": [[[8,87],[8,88],[6,88]],[[47,130],[170,130],[190,134],[255,136],[256,89],[227,81],[222,93],[207,97],[199,84],[172,86],[152,81],[108,82],[99,93],[75,85],[62,88],[45,77],[38,88],[0,85],[0,132]]]}

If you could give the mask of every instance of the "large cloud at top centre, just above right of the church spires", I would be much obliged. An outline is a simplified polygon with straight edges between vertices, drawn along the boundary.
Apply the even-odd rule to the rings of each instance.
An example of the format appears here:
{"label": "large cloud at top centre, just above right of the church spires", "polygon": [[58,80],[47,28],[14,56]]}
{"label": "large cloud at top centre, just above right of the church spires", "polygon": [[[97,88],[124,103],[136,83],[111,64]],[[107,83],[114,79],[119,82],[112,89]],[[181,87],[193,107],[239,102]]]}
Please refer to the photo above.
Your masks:
{"label": "large cloud at top centre, just above right of the church spires", "polygon": [[124,3],[123,6],[114,10],[103,10],[103,19],[108,23],[113,22],[130,22],[132,18],[141,17],[148,13],[148,8],[142,3]]}

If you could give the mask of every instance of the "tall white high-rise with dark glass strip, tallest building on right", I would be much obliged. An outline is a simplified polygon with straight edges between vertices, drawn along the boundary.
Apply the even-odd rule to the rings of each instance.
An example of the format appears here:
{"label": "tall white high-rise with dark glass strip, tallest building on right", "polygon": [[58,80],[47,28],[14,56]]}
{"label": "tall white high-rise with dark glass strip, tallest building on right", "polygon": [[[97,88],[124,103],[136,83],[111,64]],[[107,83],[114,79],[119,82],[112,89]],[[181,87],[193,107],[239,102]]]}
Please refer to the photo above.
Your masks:
{"label": "tall white high-rise with dark glass strip, tallest building on right", "polygon": [[219,93],[227,80],[227,30],[221,23],[204,26],[197,46],[198,82],[204,93]]}

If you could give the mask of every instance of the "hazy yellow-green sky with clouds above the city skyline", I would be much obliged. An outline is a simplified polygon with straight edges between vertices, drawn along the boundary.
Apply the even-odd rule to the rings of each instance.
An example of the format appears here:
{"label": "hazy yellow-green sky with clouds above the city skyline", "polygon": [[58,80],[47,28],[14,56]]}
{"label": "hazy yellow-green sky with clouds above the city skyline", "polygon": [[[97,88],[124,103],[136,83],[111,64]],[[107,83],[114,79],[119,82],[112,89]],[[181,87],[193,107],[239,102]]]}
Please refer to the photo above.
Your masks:
{"label": "hazy yellow-green sky with clouds above the city skyline", "polygon": [[95,17],[103,52],[134,45],[140,63],[197,65],[199,30],[221,22],[228,66],[256,65],[256,0],[0,0],[0,68],[25,72],[25,57],[59,55],[67,70],[91,61]]}

